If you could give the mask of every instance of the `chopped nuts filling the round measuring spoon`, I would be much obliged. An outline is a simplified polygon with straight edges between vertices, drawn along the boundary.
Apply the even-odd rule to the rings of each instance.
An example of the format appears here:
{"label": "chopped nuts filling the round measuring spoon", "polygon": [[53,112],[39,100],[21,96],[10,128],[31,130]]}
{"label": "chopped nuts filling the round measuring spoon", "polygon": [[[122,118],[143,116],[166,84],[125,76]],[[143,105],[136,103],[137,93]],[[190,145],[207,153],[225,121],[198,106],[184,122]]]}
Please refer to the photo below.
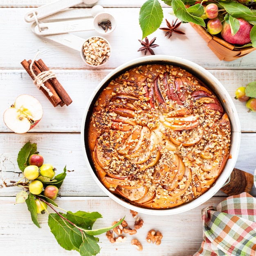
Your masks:
{"label": "chopped nuts filling the round measuring spoon", "polygon": [[92,36],[83,44],[81,55],[86,64],[99,67],[110,57],[110,43],[101,36]]}

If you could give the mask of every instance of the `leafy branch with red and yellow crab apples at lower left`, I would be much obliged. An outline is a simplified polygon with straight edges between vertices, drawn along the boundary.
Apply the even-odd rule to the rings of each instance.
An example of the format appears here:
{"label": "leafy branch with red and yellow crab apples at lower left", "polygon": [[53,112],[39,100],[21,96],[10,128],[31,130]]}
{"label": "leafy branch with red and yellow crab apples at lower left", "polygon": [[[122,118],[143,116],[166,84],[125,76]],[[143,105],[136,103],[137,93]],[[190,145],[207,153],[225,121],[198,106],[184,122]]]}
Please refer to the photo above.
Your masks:
{"label": "leafy branch with red and yellow crab apples at lower left", "polygon": [[[102,218],[101,214],[98,212],[85,212],[85,211],[77,211],[75,213],[71,211],[65,211],[58,207],[58,205],[54,202],[56,195],[58,193],[58,189],[61,187],[65,177],[66,177],[66,166],[62,173],[55,176],[55,169],[51,168],[44,172],[45,176],[41,175],[40,168],[43,166],[43,161],[39,161],[39,167],[34,165],[39,163],[38,161],[32,161],[31,156],[34,157],[35,160],[40,159],[40,157],[36,158],[39,153],[37,152],[36,143],[31,144],[27,142],[18,153],[18,166],[22,171],[24,177],[22,177],[18,182],[10,181],[11,184],[6,184],[5,186],[19,186],[22,188],[16,195],[16,203],[25,202],[27,204],[27,208],[31,214],[31,219],[34,224],[40,228],[40,224],[38,222],[38,213],[48,213],[48,225],[49,228],[54,234],[58,244],[66,250],[76,250],[80,253],[81,256],[91,256],[96,255],[100,252],[100,247],[98,245],[99,238],[97,235],[103,234],[110,229],[113,229],[121,224],[124,220],[122,218],[115,225],[110,227],[104,227],[100,229],[92,229],[95,221],[99,218]],[[33,162],[33,165],[30,163]],[[29,171],[27,167],[34,166],[30,168]],[[35,174],[38,168],[38,174]],[[27,169],[26,169],[27,168]],[[44,169],[45,171],[45,169]],[[54,171],[54,176],[51,171]],[[42,172],[43,173],[43,172]],[[49,176],[50,173],[50,176]],[[35,176],[34,176],[35,175]],[[36,177],[34,180],[27,177]],[[48,176],[48,177],[47,177]],[[25,181],[24,181],[25,180]],[[32,191],[38,191],[31,193],[31,182],[35,182],[36,185],[43,184],[43,188],[34,187]],[[51,190],[47,191],[47,188],[51,187]],[[54,188],[56,191],[54,191]],[[45,193],[47,191],[47,193]],[[55,193],[52,194],[52,191]],[[54,213],[49,213],[47,211],[47,207],[51,208]],[[64,211],[60,212],[58,210]]]}

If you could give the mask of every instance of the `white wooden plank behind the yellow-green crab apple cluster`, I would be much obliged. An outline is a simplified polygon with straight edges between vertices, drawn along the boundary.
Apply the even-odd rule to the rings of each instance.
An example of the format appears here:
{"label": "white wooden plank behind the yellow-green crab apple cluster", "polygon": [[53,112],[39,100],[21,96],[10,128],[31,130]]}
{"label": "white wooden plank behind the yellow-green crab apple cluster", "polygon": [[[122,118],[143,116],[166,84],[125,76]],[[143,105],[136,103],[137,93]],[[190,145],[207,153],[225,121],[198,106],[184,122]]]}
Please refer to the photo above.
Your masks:
{"label": "white wooden plank behind the yellow-green crab apple cluster", "polygon": [[[67,165],[67,178],[61,186],[63,196],[104,196],[106,195],[93,180],[82,153],[79,133],[26,133],[22,136],[13,133],[0,133],[0,184],[4,178],[19,180],[20,170],[17,155],[20,148],[27,142],[37,143],[37,149],[45,158],[46,163],[54,165],[57,173],[61,173]],[[256,159],[256,137],[254,133],[243,133],[236,168],[254,173]],[[20,188],[0,189],[1,196],[14,196]],[[256,195],[256,189],[252,190]],[[219,195],[224,195],[220,193]]]}

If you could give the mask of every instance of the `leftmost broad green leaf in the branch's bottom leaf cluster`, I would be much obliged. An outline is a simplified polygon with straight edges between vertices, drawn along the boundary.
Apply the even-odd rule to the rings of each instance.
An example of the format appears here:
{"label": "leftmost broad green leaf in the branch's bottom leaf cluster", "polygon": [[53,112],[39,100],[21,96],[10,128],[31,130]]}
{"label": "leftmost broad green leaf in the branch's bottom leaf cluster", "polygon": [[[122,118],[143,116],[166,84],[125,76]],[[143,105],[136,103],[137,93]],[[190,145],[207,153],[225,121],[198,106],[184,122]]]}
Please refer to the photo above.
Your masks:
{"label": "leftmost broad green leaf in the branch's bottom leaf cluster", "polygon": [[[64,213],[60,213],[61,216],[66,218]],[[68,224],[66,220],[63,220],[57,213],[50,213],[48,217],[48,225],[52,234],[58,244],[64,249],[71,251],[79,251],[79,247],[83,241],[81,232]]]}

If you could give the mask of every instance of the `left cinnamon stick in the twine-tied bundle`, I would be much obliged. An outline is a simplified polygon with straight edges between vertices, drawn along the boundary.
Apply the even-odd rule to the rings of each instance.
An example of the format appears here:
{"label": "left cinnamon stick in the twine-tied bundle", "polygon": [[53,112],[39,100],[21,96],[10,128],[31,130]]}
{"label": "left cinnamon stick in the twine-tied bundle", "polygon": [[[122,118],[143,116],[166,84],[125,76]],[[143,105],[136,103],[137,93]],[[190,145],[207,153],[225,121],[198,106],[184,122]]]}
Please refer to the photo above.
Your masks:
{"label": "left cinnamon stick in the twine-tied bundle", "polygon": [[[24,69],[27,71],[29,76],[34,80],[35,78],[30,71],[30,64],[31,64],[31,60],[29,60],[29,61],[23,60],[21,62],[22,67],[24,67]],[[36,75],[38,75],[42,72],[35,64],[33,64],[32,69]],[[52,103],[52,105],[54,107],[56,107],[58,104],[61,103],[60,97],[58,96],[58,94],[55,92],[53,86],[48,81],[45,82],[45,86],[50,90],[50,92],[52,92],[52,94],[53,94],[52,97],[49,96],[48,92],[43,87],[40,87],[39,89],[45,94],[45,96],[49,99],[49,101]]]}

